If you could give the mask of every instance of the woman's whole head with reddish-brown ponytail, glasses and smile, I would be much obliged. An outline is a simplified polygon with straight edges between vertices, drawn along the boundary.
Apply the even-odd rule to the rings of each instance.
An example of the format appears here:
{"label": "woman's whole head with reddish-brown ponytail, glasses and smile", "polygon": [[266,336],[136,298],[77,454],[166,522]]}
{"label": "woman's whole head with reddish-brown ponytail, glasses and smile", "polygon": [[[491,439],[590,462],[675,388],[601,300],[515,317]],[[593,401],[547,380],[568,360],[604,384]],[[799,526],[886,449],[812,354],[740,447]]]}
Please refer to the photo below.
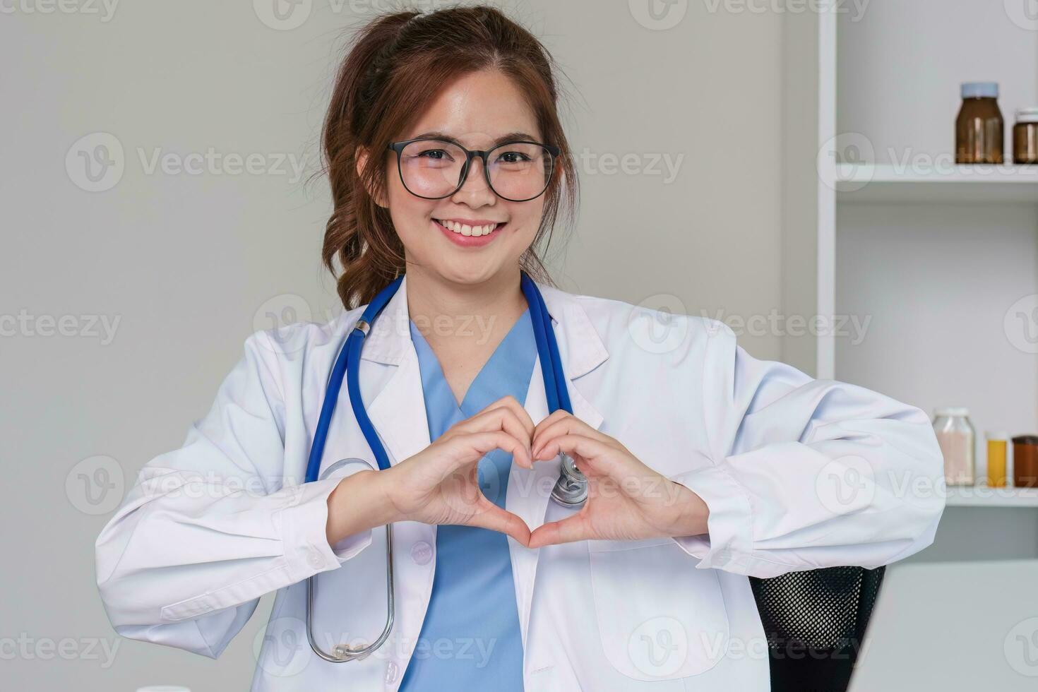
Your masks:
{"label": "woman's whole head with reddish-brown ponytail, glasses and smile", "polygon": [[[401,12],[365,27],[324,132],[335,210],[323,254],[342,270],[343,303],[368,302],[406,260],[469,284],[518,258],[547,280],[538,246],[561,212],[572,222],[577,197],[558,95],[548,52],[496,10]],[[494,223],[486,239],[471,230]],[[450,247],[481,248],[480,261]]]}

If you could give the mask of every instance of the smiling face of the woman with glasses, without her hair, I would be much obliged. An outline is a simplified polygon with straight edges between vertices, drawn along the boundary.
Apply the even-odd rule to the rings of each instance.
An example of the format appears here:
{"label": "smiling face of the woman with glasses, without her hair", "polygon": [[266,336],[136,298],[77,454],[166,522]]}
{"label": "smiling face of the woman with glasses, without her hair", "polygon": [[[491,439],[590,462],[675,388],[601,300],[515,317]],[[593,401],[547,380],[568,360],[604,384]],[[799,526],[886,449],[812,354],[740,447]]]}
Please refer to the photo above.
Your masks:
{"label": "smiling face of the woman with glasses, without her hair", "polygon": [[[489,150],[498,143],[498,138],[512,133],[525,135],[509,139],[543,142],[526,101],[515,84],[496,71],[473,73],[456,80],[436,96],[414,127],[402,133],[400,139],[424,137],[434,132],[446,135],[468,149]],[[492,157],[496,159],[507,150],[498,149]],[[401,182],[397,154],[388,150],[386,154],[389,215],[404,244],[408,265],[462,284],[481,283],[519,266],[519,257],[532,244],[540,226],[543,194],[519,202],[498,197],[487,186],[483,162],[473,158],[465,184],[457,192],[442,199],[422,199],[411,194]],[[447,165],[442,153],[434,149],[427,156],[432,159],[424,159],[415,165],[424,166],[427,171]],[[406,160],[404,165],[408,165]],[[457,177],[453,183],[457,185]],[[470,227],[503,225],[496,226],[487,236],[475,237],[459,232],[464,223]]]}

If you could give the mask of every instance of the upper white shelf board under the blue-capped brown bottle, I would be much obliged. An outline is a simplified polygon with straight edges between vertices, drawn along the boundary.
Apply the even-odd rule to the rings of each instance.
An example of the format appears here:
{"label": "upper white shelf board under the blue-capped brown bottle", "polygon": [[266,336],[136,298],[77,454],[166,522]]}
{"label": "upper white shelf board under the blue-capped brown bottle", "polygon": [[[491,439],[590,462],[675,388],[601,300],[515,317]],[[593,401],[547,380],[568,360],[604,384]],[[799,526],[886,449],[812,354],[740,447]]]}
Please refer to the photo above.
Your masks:
{"label": "upper white shelf board under the blue-capped brown bottle", "polygon": [[968,202],[1038,204],[1038,165],[840,164],[837,194],[845,202]]}

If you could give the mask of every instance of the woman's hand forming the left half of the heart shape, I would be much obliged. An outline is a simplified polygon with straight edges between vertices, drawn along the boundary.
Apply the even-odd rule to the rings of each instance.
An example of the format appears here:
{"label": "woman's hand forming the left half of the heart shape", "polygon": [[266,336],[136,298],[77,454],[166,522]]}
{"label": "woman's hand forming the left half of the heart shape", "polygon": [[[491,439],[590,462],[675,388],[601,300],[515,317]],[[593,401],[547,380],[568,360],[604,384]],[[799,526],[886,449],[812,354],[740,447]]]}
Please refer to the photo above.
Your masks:
{"label": "woman's hand forming the left half of the heart shape", "polygon": [[[519,466],[531,468],[532,434],[529,414],[514,396],[504,396],[471,418],[455,423],[424,450],[385,471],[364,471],[347,477],[329,497],[329,541],[334,543],[349,535],[353,528],[417,521],[480,526],[527,545],[526,523],[491,502],[480,490],[479,464],[493,449],[502,449]],[[380,506],[366,514],[364,524],[370,524],[373,516],[378,523],[358,524],[365,513],[357,509],[370,506],[373,498],[378,498]]]}

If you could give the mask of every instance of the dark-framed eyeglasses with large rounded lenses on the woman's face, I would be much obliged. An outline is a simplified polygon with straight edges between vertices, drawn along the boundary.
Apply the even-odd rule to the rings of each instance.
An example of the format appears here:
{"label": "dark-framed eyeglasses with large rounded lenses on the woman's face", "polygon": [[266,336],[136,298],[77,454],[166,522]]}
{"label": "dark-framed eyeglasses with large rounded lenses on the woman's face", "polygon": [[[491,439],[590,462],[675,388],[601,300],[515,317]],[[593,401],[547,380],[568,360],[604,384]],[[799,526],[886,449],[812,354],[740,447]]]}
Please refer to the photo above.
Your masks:
{"label": "dark-framed eyeglasses with large rounded lenses on the woman's face", "polygon": [[525,202],[544,194],[562,149],[540,142],[514,141],[481,151],[443,139],[390,142],[401,183],[424,199],[449,197],[465,185],[472,159],[483,160],[487,185],[501,199]]}

